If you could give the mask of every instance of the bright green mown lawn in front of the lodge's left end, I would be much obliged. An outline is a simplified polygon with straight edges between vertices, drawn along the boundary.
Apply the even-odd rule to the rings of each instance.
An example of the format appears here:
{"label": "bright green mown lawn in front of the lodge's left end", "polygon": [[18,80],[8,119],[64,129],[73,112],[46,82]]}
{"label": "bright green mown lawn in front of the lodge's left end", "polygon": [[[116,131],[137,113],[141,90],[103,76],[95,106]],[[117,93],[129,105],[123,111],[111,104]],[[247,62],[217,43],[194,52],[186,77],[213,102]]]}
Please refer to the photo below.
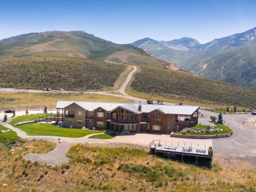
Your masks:
{"label": "bright green mown lawn in front of the lodge's left end", "polygon": [[71,129],[58,127],[57,125],[50,125],[44,123],[27,123],[15,126],[29,135],[51,135],[59,137],[79,138],[92,133],[104,133],[106,131],[90,131],[82,129]]}

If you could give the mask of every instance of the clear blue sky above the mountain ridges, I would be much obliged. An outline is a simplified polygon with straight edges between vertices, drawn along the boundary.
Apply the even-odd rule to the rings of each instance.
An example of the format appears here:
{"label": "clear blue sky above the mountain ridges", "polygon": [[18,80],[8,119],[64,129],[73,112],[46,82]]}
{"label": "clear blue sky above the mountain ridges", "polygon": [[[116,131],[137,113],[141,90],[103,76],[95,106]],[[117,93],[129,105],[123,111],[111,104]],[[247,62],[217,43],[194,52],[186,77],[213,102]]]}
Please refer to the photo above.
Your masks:
{"label": "clear blue sky above the mountain ridges", "polygon": [[256,27],[256,1],[1,1],[0,39],[84,30],[113,41],[192,37],[201,43]]}

